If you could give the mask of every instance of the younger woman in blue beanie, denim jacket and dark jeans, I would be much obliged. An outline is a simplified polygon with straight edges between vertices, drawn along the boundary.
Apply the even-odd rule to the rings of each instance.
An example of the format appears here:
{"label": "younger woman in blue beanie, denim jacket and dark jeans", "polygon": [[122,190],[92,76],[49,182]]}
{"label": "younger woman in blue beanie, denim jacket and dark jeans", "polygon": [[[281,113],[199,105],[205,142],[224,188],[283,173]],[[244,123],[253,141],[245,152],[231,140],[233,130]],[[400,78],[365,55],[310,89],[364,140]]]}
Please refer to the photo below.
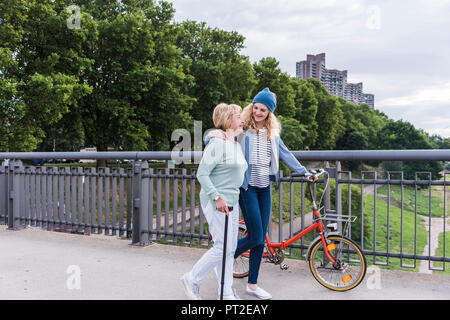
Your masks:
{"label": "younger woman in blue beanie, denim jacket and dark jeans", "polygon": [[246,292],[260,299],[272,295],[257,285],[264,242],[271,212],[270,181],[279,183],[279,159],[291,170],[309,176],[280,138],[280,123],[274,115],[276,95],[265,88],[243,113],[245,133],[240,139],[248,169],[240,188],[239,205],[248,235],[239,240],[235,257],[250,249]]}

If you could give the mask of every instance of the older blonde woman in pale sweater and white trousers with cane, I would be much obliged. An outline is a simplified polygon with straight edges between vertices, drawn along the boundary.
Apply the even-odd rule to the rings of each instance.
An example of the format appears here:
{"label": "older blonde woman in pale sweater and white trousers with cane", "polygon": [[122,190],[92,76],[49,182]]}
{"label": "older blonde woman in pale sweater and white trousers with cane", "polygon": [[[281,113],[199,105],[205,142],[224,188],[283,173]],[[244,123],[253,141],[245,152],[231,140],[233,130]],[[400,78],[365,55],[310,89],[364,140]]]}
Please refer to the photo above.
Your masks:
{"label": "older blonde woman in pale sweater and white trousers with cane", "polygon": [[[239,299],[232,290],[233,258],[238,235],[239,187],[248,167],[241,147],[235,141],[235,137],[242,133],[241,111],[240,106],[233,104],[219,104],[215,107],[213,121],[217,130],[209,134],[209,143],[198,167],[200,204],[208,221],[214,246],[181,278],[186,295],[193,300],[201,299],[200,284],[214,268],[217,267],[220,274],[222,272],[225,214],[230,218],[223,299]],[[233,209],[229,211],[229,207]]]}

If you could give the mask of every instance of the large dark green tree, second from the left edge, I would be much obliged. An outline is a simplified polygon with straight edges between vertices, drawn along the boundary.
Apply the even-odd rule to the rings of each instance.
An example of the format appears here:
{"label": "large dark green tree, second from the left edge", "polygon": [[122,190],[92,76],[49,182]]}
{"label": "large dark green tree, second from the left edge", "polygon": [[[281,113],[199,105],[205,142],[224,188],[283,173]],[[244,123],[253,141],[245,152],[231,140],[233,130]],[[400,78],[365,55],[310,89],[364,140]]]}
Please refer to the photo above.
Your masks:
{"label": "large dark green tree, second from the left edge", "polygon": [[[92,35],[79,102],[86,144],[125,150],[169,149],[171,132],[190,123],[192,78],[175,46],[174,9],[165,1],[84,2],[81,30]],[[92,21],[92,22],[90,22]]]}

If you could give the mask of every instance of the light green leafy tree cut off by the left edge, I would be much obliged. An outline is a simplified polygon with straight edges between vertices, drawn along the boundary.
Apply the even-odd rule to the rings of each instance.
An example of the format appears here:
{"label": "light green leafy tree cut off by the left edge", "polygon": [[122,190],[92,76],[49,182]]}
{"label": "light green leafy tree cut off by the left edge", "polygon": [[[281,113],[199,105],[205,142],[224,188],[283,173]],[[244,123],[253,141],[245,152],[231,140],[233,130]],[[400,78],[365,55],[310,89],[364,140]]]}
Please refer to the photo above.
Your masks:
{"label": "light green leafy tree cut off by the left edge", "polygon": [[0,3],[0,103],[3,151],[32,151],[91,87],[80,80],[89,61],[64,48],[74,40],[61,1]]}

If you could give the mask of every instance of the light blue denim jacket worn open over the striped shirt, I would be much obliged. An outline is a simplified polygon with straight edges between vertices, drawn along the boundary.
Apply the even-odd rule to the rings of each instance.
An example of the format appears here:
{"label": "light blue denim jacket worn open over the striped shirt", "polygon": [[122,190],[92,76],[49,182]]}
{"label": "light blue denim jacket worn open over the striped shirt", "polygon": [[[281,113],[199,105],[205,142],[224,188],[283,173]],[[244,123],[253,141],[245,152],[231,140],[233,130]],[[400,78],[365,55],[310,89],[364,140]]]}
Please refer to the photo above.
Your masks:
{"label": "light blue denim jacket worn open over the striped shirt", "polygon": [[[244,154],[245,160],[248,163],[248,169],[245,172],[244,175],[244,182],[242,183],[241,188],[247,190],[248,189],[248,182],[250,181],[250,175],[252,173],[252,164],[250,163],[250,155],[253,151],[253,144],[254,144],[254,135],[255,132],[251,130],[246,130],[243,134],[239,135],[237,137],[238,142],[241,145],[242,153]],[[205,138],[205,144],[209,142],[209,138]],[[280,168],[280,158],[283,160],[288,167],[299,174],[305,174],[308,171],[304,166],[298,162],[297,158],[294,157],[294,155],[289,151],[289,149],[284,144],[283,140],[280,138],[280,136],[275,136],[272,138],[272,155],[270,159],[270,169],[269,169],[269,178],[270,181],[274,181],[277,186],[280,183],[280,175],[279,175],[279,168]]]}

